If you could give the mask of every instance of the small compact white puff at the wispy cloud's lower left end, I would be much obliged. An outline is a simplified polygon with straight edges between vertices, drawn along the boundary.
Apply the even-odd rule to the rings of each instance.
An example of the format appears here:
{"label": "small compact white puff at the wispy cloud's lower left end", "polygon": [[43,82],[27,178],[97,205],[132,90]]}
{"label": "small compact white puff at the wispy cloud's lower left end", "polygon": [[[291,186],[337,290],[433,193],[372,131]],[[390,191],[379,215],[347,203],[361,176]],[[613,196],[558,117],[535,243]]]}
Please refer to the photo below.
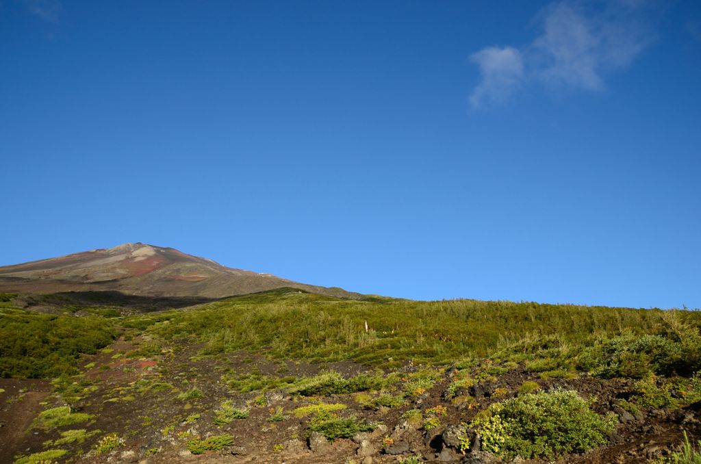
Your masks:
{"label": "small compact white puff at the wispy cloud's lower left end", "polygon": [[478,108],[483,100],[505,101],[523,78],[523,60],[515,48],[483,48],[472,55],[470,60],[479,66],[479,73],[482,74],[482,82],[470,96],[473,108]]}

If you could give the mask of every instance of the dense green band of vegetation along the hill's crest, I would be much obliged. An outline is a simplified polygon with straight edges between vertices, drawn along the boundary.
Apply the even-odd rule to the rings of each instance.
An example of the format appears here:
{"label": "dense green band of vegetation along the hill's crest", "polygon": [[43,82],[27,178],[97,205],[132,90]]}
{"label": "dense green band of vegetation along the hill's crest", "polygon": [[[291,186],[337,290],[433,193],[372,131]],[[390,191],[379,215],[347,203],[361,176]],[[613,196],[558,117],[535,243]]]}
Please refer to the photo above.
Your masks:
{"label": "dense green band of vegetation along the hill's crest", "polygon": [[[139,315],[128,324],[164,339],[195,336],[209,354],[265,346],[270,347],[266,354],[277,359],[447,365],[468,354],[489,355],[523,334],[532,340],[557,336],[574,344],[626,330],[648,334],[660,324],[661,314],[508,301],[339,300],[278,289],[217,301],[196,311]],[[694,313],[684,318],[699,321]]]}

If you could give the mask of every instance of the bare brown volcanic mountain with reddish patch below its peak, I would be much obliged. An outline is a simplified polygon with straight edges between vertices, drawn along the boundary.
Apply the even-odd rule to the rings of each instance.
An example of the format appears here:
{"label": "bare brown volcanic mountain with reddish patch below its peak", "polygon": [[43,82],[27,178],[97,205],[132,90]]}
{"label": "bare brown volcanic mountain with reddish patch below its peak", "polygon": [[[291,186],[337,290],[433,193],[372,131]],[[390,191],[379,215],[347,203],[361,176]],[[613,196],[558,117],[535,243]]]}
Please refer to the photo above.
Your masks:
{"label": "bare brown volcanic mountain with reddish patch below its peak", "polygon": [[0,292],[116,290],[142,296],[221,298],[280,287],[345,298],[361,296],[340,288],[306,285],[270,274],[227,268],[211,259],[143,243],[0,266]]}

